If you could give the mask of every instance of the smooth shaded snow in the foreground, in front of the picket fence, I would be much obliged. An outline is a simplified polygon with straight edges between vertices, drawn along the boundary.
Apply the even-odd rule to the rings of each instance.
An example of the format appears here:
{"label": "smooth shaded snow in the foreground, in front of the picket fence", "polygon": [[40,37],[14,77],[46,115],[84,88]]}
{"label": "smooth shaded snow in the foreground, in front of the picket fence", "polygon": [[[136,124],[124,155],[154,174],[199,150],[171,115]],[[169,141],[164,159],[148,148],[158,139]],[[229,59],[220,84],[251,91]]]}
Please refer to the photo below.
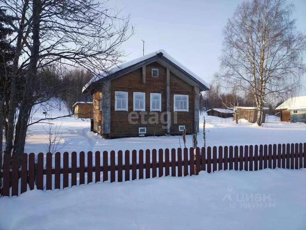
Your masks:
{"label": "smooth shaded snow in the foreground, in front of the picket fence", "polygon": [[0,229],[306,229],[306,169],[32,190],[0,198]]}

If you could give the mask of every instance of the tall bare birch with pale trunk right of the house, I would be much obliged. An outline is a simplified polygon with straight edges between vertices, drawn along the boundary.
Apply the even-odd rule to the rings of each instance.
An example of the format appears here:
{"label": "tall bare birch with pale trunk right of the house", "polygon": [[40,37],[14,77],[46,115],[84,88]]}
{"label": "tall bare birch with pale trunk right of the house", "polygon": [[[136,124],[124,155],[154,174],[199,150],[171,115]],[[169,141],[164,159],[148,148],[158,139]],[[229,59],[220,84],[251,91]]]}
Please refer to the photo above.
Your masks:
{"label": "tall bare birch with pale trunk right of the house", "polygon": [[223,30],[216,76],[254,96],[258,125],[264,103],[296,94],[301,86],[306,36],[296,30],[293,10],[285,0],[243,2]]}

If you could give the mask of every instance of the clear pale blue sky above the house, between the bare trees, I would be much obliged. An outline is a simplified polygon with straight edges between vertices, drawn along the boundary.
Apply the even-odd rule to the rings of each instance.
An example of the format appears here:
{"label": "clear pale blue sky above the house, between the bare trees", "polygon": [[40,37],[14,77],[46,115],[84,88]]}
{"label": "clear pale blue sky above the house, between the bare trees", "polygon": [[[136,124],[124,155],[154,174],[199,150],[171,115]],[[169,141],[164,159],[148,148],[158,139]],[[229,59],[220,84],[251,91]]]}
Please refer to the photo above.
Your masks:
{"label": "clear pale blue sky above the house, between the bare trees", "polygon": [[[219,70],[218,56],[222,46],[222,29],[243,0],[113,0],[109,6],[131,13],[136,33],[123,48],[127,60],[158,49],[181,62],[188,69],[210,82]],[[306,33],[306,0],[289,1],[295,4],[297,29]],[[304,84],[305,86],[305,84]],[[305,89],[301,95],[306,95]]]}

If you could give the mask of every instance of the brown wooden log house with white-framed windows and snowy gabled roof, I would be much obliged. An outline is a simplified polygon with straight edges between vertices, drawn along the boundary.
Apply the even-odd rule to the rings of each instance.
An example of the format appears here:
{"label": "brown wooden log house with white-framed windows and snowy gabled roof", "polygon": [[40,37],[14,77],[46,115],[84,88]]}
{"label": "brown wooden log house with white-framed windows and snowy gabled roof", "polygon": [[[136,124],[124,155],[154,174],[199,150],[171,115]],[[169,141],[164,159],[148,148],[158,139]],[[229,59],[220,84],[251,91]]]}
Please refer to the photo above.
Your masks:
{"label": "brown wooden log house with white-framed windows and snowy gabled roof", "polygon": [[94,132],[118,138],[199,131],[205,90],[203,79],[158,50],[93,77],[83,93],[93,96]]}

